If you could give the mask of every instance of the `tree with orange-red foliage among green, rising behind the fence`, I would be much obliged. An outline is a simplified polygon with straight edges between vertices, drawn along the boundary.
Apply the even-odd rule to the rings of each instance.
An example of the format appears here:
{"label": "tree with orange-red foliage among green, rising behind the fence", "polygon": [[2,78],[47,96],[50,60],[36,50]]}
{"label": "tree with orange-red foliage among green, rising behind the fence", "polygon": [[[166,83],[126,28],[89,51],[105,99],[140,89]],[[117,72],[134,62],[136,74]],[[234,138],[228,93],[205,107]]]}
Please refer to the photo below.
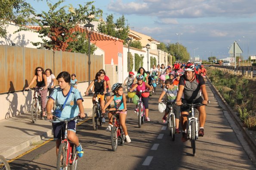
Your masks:
{"label": "tree with orange-red foliage among green, rising behind the fence", "polygon": [[[46,49],[68,52],[86,52],[85,45],[86,34],[76,31],[79,24],[89,23],[96,20],[96,17],[102,15],[102,10],[96,9],[92,2],[87,2],[85,6],[79,5],[79,8],[73,6],[59,7],[64,0],[59,0],[52,5],[48,3],[49,11],[42,12],[37,16],[37,24],[41,29],[38,31],[43,38]],[[66,8],[69,7],[69,12]],[[48,37],[49,39],[46,39]],[[35,46],[39,44],[33,43]],[[88,42],[87,42],[88,44]],[[96,48],[92,47],[93,53]]]}

